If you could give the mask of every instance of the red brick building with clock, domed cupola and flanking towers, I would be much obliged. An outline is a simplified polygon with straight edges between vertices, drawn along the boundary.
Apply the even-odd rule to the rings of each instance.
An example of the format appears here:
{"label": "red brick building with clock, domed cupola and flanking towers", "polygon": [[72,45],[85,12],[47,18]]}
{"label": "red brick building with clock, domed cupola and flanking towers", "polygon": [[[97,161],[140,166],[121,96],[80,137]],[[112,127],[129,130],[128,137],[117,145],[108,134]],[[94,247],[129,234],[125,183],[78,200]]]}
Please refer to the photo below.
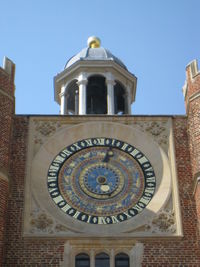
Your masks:
{"label": "red brick building with clock, domed cupola and flanking towers", "polygon": [[185,116],[135,116],[136,77],[98,38],[54,78],[60,115],[15,114],[0,68],[0,266],[200,266],[200,72]]}

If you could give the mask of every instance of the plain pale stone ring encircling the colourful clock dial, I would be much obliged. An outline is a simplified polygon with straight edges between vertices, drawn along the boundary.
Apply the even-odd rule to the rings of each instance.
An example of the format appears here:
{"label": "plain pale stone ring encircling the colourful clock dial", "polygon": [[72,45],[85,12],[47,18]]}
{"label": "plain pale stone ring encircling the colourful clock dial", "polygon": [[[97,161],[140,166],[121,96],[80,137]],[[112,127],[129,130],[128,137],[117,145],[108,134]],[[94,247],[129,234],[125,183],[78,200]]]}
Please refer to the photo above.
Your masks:
{"label": "plain pale stone ring encircling the colourful clock dial", "polygon": [[[151,162],[157,178],[155,194],[148,206],[133,219],[116,224],[92,225],[66,216],[53,203],[46,186],[48,168],[63,147],[81,139],[105,136],[127,142],[137,147]],[[92,236],[112,236],[132,231],[151,220],[168,201],[171,193],[171,173],[165,152],[147,134],[131,126],[110,122],[88,122],[66,127],[57,132],[40,148],[35,155],[31,170],[32,190],[40,205],[60,223],[79,233]],[[48,201],[47,201],[48,199]]]}

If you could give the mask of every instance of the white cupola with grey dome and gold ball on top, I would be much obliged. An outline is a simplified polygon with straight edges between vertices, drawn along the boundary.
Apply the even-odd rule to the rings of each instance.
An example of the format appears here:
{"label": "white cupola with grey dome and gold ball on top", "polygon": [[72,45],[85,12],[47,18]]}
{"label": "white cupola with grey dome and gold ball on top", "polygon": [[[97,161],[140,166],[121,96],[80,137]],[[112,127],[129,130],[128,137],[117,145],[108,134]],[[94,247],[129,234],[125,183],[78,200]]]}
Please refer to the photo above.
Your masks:
{"label": "white cupola with grey dome and gold ball on top", "polygon": [[61,115],[131,114],[137,78],[123,62],[101,47],[97,37],[69,59],[54,78]]}

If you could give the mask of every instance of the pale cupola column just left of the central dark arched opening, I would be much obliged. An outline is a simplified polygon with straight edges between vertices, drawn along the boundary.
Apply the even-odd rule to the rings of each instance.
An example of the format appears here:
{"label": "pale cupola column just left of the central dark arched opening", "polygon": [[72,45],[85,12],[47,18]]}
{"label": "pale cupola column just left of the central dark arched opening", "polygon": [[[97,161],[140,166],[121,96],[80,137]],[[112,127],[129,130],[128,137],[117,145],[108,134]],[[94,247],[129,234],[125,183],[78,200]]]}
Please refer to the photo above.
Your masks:
{"label": "pale cupola column just left of the central dark arched opening", "polygon": [[78,78],[78,86],[79,86],[79,115],[85,115],[86,114],[86,85],[88,83],[87,76],[85,73],[81,73]]}

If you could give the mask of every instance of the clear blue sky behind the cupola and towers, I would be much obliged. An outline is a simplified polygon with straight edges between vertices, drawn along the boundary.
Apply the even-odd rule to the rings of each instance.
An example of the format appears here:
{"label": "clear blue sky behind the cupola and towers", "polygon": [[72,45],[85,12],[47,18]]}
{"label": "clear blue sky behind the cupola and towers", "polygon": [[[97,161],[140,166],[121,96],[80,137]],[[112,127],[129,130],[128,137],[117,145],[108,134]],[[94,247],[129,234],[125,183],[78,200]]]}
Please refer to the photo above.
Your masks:
{"label": "clear blue sky behind the cupola and towers", "polygon": [[16,64],[17,114],[59,113],[53,77],[91,35],[138,78],[133,114],[185,113],[200,0],[0,0],[0,60]]}

